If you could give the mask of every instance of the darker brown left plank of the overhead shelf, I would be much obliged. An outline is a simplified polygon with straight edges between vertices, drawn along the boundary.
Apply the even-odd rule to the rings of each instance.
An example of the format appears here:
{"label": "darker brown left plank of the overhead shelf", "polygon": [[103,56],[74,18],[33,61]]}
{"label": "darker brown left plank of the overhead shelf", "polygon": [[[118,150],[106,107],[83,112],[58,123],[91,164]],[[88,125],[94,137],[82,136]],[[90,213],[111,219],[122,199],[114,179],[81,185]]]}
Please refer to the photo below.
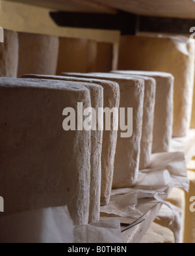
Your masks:
{"label": "darker brown left plank of the overhead shelf", "polygon": [[45,7],[53,10],[63,10],[67,12],[101,12],[115,14],[114,8],[106,7],[101,3],[89,0],[7,0],[37,7]]}

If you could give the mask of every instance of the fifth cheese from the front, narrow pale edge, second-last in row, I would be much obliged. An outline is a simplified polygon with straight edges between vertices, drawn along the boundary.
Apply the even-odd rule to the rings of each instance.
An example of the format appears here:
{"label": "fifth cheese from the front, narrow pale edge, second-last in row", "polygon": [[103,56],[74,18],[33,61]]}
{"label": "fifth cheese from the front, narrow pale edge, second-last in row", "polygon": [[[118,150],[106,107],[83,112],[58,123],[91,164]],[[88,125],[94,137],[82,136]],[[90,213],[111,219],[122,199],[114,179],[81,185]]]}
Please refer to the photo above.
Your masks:
{"label": "fifth cheese from the front, narrow pale edge, second-last in row", "polygon": [[[113,72],[115,73],[115,71]],[[156,81],[155,79],[146,76],[135,76],[133,75],[133,72],[132,76],[144,79],[145,81],[142,139],[140,144],[140,169],[146,169],[149,167],[150,164],[153,146],[153,124],[155,111]]]}

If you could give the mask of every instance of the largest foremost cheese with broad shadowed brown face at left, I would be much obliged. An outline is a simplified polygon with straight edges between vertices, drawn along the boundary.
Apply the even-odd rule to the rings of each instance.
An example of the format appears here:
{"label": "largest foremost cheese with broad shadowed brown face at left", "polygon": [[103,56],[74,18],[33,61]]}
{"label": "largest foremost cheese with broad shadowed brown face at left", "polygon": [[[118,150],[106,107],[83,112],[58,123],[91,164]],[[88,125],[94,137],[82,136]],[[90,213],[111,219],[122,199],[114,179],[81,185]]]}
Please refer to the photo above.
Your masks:
{"label": "largest foremost cheese with broad shadowed brown face at left", "polygon": [[2,216],[68,205],[75,225],[88,223],[91,132],[62,128],[65,107],[91,107],[88,89],[0,78],[0,102]]}

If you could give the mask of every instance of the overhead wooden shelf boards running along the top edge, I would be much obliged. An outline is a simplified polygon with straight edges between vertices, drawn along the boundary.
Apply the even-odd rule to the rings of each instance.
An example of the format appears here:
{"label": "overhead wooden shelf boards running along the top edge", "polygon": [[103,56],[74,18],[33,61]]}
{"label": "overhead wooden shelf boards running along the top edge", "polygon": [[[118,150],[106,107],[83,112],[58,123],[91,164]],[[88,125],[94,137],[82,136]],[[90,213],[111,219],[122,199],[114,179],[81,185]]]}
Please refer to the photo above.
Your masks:
{"label": "overhead wooden shelf boards running along the top edge", "polygon": [[195,19],[194,0],[8,0],[71,12],[116,13]]}

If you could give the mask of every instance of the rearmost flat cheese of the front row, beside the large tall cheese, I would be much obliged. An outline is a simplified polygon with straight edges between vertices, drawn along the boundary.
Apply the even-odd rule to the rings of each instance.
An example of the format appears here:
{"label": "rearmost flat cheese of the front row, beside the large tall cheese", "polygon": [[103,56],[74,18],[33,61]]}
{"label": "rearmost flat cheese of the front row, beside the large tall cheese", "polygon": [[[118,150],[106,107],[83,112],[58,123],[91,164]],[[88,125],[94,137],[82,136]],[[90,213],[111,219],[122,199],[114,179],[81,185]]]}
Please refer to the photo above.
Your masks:
{"label": "rearmost flat cheese of the front row, beside the large tall cheese", "polygon": [[168,152],[172,140],[174,78],[164,72],[117,71],[119,74],[149,76],[157,81],[153,126],[153,153]]}

